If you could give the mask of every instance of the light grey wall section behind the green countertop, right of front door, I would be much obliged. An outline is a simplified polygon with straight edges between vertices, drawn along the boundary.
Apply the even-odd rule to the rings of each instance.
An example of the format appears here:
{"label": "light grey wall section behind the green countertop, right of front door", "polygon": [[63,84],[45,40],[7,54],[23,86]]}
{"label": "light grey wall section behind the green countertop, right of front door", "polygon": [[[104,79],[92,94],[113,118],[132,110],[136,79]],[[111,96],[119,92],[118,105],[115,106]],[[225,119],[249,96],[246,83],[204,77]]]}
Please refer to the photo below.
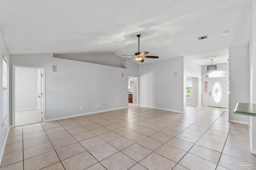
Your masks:
{"label": "light grey wall section behind the green countertop, right of front door", "polygon": [[248,123],[249,117],[234,114],[238,102],[249,103],[249,45],[229,49],[229,121]]}

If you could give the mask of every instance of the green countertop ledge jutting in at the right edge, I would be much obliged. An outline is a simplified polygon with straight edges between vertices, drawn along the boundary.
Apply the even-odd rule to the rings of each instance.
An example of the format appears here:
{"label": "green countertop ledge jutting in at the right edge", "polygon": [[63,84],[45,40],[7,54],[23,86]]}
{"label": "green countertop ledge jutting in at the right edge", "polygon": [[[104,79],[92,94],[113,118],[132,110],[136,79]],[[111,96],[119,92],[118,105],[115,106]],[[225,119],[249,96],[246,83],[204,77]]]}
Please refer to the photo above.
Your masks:
{"label": "green countertop ledge jutting in at the right edge", "polygon": [[256,116],[256,104],[238,103],[234,114]]}

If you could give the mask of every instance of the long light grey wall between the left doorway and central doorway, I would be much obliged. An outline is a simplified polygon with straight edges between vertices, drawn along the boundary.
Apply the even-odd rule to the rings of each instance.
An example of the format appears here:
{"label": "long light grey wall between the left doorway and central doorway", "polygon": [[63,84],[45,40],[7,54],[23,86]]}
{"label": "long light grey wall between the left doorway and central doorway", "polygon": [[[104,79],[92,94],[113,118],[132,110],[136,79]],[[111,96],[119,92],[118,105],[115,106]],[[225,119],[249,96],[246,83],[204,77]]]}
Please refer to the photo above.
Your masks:
{"label": "long light grey wall between the left doorway and central doorway", "polygon": [[[138,70],[138,64],[128,63],[125,69],[54,58],[52,54],[11,55],[10,64],[45,68],[46,120],[128,107],[128,73]],[[57,73],[52,72],[52,65],[57,66]],[[98,104],[100,107],[95,107]]]}

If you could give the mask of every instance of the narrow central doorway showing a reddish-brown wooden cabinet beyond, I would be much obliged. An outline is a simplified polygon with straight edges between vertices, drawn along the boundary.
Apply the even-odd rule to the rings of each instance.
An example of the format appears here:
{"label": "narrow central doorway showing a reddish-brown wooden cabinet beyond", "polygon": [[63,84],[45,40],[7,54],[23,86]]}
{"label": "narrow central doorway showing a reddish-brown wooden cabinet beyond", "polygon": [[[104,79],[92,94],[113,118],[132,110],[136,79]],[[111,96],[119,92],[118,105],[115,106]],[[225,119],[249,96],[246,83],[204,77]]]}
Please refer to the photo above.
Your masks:
{"label": "narrow central doorway showing a reddish-brown wooden cabinet beyond", "polygon": [[128,106],[138,106],[138,77],[128,77]]}

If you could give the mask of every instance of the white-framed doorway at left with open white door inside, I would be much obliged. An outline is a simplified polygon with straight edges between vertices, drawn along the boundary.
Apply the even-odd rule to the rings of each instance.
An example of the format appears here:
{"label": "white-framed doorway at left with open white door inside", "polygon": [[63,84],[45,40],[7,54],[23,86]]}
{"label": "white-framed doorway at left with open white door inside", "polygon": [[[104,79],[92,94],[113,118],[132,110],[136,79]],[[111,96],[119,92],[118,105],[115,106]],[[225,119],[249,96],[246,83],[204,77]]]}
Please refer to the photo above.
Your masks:
{"label": "white-framed doorway at left with open white door inside", "polygon": [[28,125],[44,120],[44,68],[12,68],[12,125]]}

